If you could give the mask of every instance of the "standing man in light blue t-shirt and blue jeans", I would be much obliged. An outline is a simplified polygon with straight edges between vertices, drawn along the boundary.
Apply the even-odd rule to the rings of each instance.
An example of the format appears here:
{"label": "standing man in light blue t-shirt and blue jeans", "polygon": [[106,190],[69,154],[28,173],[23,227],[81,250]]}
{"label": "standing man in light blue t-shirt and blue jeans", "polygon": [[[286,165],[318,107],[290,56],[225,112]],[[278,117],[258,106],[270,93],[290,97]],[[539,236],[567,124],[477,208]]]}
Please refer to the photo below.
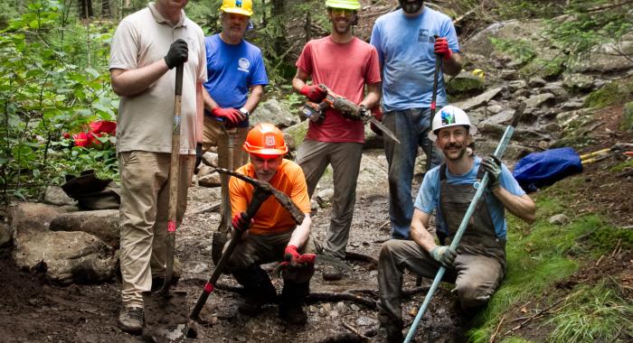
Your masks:
{"label": "standing man in light blue t-shirt and blue jeans", "polygon": [[[461,58],[449,16],[424,6],[421,0],[400,0],[400,5],[402,9],[376,20],[371,43],[378,51],[383,71],[383,124],[401,142],[384,139],[389,162],[392,237],[409,239],[413,215],[411,181],[418,147],[430,158],[431,166],[441,162],[441,153],[431,148],[427,137],[435,59],[440,56],[442,70],[455,76],[461,70]],[[436,103],[438,107],[448,105],[441,72]]]}

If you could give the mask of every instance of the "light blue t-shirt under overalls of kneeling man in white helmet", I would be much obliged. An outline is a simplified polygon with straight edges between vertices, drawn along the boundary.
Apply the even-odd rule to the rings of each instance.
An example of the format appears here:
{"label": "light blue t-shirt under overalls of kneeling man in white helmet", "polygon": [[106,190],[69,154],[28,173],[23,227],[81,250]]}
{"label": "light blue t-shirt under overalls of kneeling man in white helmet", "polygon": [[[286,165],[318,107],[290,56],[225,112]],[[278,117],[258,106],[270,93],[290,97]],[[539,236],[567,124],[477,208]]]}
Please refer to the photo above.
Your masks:
{"label": "light blue t-shirt under overalls of kneeling man in white helmet", "polygon": [[[481,164],[481,158],[475,157],[475,163],[473,168],[463,175],[453,175],[446,169],[446,181],[449,184],[455,185],[472,185],[477,181],[477,171],[479,170],[479,164]],[[512,172],[507,169],[505,164],[501,165],[501,175],[499,176],[499,182],[501,187],[516,196],[523,196],[525,191],[519,186],[519,182],[512,176]],[[505,233],[507,227],[505,224],[505,208],[504,205],[496,199],[496,196],[492,194],[490,190],[484,190],[484,198],[486,199],[486,205],[490,212],[493,225],[495,226],[495,233],[498,238],[505,239]],[[415,199],[414,204],[416,209],[431,214],[433,209],[439,206],[439,166],[431,169],[424,175],[424,180],[420,186],[418,197]],[[443,220],[443,218],[439,218]]]}

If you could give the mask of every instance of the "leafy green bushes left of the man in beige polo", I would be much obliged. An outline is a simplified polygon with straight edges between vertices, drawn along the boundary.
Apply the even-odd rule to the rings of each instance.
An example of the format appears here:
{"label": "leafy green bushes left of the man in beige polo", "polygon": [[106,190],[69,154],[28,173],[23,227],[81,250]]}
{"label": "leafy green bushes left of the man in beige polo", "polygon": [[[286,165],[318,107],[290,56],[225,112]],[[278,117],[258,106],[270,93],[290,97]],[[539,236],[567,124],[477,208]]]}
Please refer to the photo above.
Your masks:
{"label": "leafy green bushes left of the man in beige polo", "polygon": [[58,183],[63,172],[78,168],[101,168],[116,176],[111,145],[107,152],[89,153],[70,149],[61,138],[85,131],[90,121],[115,119],[118,97],[110,89],[107,68],[112,27],[69,21],[63,14],[56,1],[33,1],[0,36],[5,199],[34,197],[43,186]]}

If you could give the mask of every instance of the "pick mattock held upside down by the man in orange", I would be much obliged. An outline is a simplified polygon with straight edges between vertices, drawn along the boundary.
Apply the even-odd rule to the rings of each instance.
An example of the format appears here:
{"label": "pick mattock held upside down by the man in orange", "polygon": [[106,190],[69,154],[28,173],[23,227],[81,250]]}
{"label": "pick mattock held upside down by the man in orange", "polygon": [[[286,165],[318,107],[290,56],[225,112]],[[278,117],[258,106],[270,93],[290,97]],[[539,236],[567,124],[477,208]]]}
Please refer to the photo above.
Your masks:
{"label": "pick mattock held upside down by the man in orange", "polygon": [[[217,168],[215,171],[234,176],[243,181],[247,181],[255,187],[249,207],[248,209],[246,209],[245,220],[247,223],[250,222],[250,219],[255,217],[255,214],[257,214],[257,211],[260,209],[261,204],[263,204],[270,195],[274,196],[275,199],[279,201],[279,204],[281,204],[284,209],[288,210],[290,216],[292,216],[292,218],[298,225],[303,222],[305,215],[301,212],[300,209],[298,209],[297,205],[295,205],[292,199],[290,199],[290,197],[288,197],[286,193],[272,187],[268,182],[255,180],[246,175],[242,175],[239,172],[231,172],[222,168]],[[229,258],[231,258],[231,254],[233,253],[235,246],[237,246],[238,242],[240,241],[242,235],[241,230],[235,229],[233,227],[232,233],[233,236],[231,237],[231,242],[229,243],[229,246],[224,249],[222,257],[220,257],[220,261],[218,262],[218,264],[216,264],[215,269],[213,270],[213,274],[211,275],[207,283],[204,284],[203,293],[200,294],[200,298],[198,298],[198,301],[195,302],[194,310],[189,316],[192,320],[201,321],[200,311],[203,310],[204,303],[207,301],[209,295],[213,292],[213,289],[215,288],[215,282],[218,281],[218,278],[222,274],[224,267],[229,261]]]}

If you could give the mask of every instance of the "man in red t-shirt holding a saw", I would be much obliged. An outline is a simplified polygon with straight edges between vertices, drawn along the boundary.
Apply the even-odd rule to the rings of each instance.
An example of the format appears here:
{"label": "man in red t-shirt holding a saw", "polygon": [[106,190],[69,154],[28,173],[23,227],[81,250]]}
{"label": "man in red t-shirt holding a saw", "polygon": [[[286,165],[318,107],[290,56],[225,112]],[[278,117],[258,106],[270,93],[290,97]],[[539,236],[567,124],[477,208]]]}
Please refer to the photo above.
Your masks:
{"label": "man in red t-shirt holding a saw", "polygon": [[[319,103],[326,97],[326,91],[318,85],[324,84],[337,95],[371,109],[380,100],[381,77],[375,49],[352,33],[361,5],[357,0],[327,0],[326,7],[332,34],[307,42],[298,58],[292,87],[308,100]],[[307,85],[310,78],[312,84]],[[297,162],[306,174],[310,196],[327,164],[334,170],[334,199],[323,254],[339,260],[345,259],[354,216],[363,144],[364,123],[360,117],[329,108],[321,122],[310,121],[306,137],[298,147]],[[328,265],[323,277],[339,280],[342,272]]]}

